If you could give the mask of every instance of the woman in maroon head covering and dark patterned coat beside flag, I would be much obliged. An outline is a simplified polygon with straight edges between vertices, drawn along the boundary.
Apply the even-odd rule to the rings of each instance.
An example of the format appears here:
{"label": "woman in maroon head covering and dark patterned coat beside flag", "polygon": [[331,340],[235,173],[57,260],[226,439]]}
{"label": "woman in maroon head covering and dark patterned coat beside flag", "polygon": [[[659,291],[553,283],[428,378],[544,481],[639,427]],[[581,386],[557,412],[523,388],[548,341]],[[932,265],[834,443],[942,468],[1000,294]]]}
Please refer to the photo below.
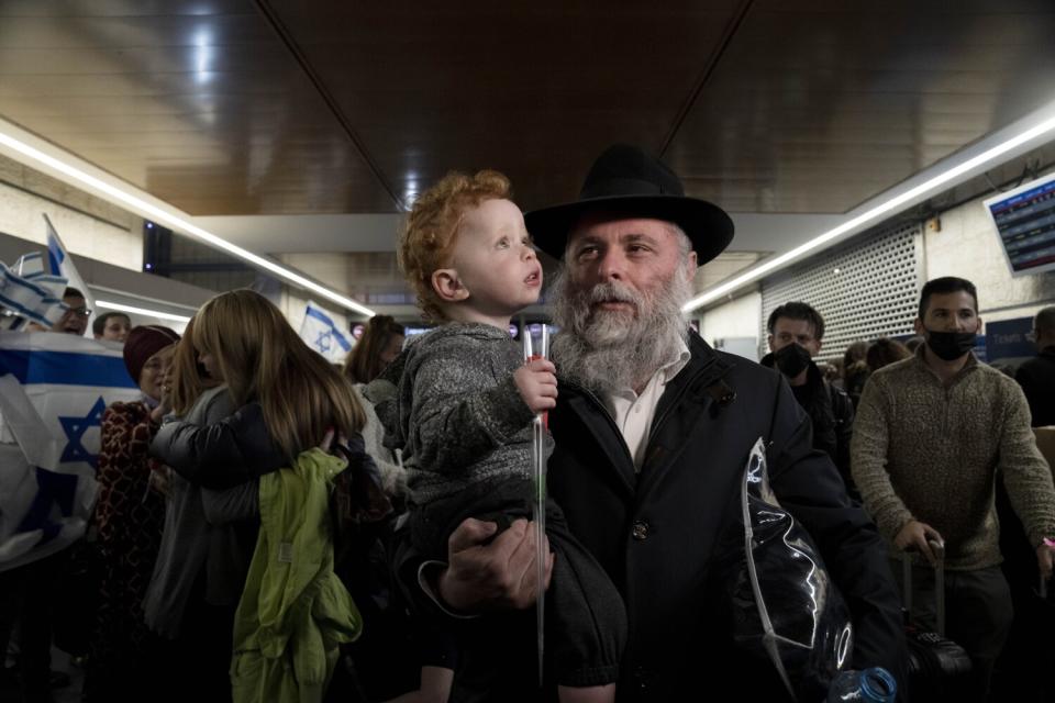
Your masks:
{"label": "woman in maroon head covering and dark patterned coat beside flag", "polygon": [[121,700],[146,684],[155,647],[143,623],[143,596],[157,558],[165,518],[164,467],[147,455],[168,412],[165,381],[179,335],[158,325],[129,333],[124,365],[143,399],[118,402],[102,416],[99,503],[95,528],[101,580],[96,631],[85,676],[92,701]]}

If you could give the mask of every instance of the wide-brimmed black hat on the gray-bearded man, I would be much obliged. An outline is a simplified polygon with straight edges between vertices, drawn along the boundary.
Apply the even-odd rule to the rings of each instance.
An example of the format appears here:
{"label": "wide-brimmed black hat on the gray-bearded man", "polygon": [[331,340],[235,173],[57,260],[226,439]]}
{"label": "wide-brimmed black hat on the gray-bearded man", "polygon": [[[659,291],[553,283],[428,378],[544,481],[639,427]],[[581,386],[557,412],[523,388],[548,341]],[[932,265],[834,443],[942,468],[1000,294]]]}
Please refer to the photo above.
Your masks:
{"label": "wide-brimmed black hat on the gray-bearded man", "polygon": [[733,239],[733,221],[724,210],[687,198],[681,181],[666,164],[626,144],[610,146],[597,157],[576,202],[534,210],[524,221],[535,245],[559,259],[571,227],[584,213],[597,210],[675,223],[692,242],[701,265]]}

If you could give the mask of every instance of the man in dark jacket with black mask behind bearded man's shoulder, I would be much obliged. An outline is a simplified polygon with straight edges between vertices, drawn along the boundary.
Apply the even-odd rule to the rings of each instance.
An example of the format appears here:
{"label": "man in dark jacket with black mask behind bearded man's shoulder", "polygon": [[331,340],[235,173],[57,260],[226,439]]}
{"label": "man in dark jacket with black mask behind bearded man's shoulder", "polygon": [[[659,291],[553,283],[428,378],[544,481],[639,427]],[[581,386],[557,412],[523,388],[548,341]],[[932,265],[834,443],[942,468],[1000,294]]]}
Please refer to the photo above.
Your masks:
{"label": "man in dark jacket with black mask behind bearded man's shoulder", "polygon": [[778,369],[791,386],[795,399],[813,423],[813,448],[832,458],[846,492],[860,500],[849,475],[849,439],[854,404],[849,397],[824,380],[813,362],[824,337],[824,319],[811,305],[790,302],[769,314],[769,354],[760,364]]}

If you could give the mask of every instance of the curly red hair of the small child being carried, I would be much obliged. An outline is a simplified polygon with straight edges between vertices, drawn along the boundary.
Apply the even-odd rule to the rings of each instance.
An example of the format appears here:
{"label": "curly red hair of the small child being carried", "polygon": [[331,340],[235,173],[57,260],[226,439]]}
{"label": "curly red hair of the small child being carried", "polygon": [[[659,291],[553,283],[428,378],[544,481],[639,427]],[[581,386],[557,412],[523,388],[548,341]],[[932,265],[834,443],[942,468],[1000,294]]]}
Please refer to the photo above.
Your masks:
{"label": "curly red hair of the small child being carried", "polygon": [[509,179],[493,170],[466,176],[451,171],[414,202],[399,239],[399,267],[418,295],[426,320],[446,319],[432,288],[432,275],[449,266],[465,212],[486,200],[508,200]]}

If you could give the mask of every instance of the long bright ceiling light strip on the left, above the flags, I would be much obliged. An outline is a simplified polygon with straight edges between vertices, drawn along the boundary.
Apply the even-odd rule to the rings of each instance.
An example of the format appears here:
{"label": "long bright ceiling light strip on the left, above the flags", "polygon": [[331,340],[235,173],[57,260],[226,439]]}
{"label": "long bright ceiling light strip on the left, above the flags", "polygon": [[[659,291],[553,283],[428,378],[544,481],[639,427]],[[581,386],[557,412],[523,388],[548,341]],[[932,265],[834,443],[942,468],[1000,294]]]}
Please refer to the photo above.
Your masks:
{"label": "long bright ceiling light strip on the left, above the flags", "polygon": [[[101,178],[97,178],[96,176],[92,176],[86,172],[85,170],[77,168],[76,166],[71,166],[70,164],[67,164],[66,161],[55,156],[46,154],[42,149],[38,149],[34,146],[31,146],[30,144],[26,144],[22,140],[15,138],[14,136],[7,134],[7,132],[2,130],[7,130],[11,132],[14,132],[14,131],[22,132],[22,130],[15,130],[12,125],[10,125],[10,123],[0,121],[0,145],[7,146],[8,148],[21,154],[22,156],[25,156],[32,159],[36,164],[46,166],[48,169],[66,176],[67,179],[73,179],[78,183],[87,186],[88,188],[99,193],[102,193],[111,202],[115,202],[115,203],[125,205],[127,208],[131,208],[133,211],[138,212],[140,214],[153,220],[154,222],[159,222],[165,226],[169,227],[170,230],[175,230],[177,232],[181,232],[184,234],[192,236],[218,249],[223,249],[224,252],[227,252],[232,256],[235,256],[242,259],[243,261],[248,261],[249,264],[252,264],[257,268],[262,268],[266,271],[270,271],[275,276],[278,276],[279,278],[292,283],[298,288],[302,288],[313,293],[318,293],[319,295],[322,295],[326,300],[337,303],[342,308],[356,312],[360,315],[366,315],[368,317],[374,316],[373,310],[370,310],[366,305],[363,305],[362,303],[355,300],[352,300],[347,295],[342,295],[341,293],[334,290],[331,290],[324,286],[320,286],[315,281],[310,280],[304,276],[301,276],[300,274],[297,274],[296,271],[286,268],[285,266],[280,266],[279,264],[276,264],[270,259],[267,259],[263,256],[254,254],[248,249],[243,249],[242,247],[231,244],[226,239],[223,239],[211,232],[208,232],[195,224],[191,224],[187,220],[188,215],[179,212],[175,208],[171,208],[171,205],[167,205],[166,203],[166,208],[160,208],[152,202],[148,202],[145,198],[142,198],[137,194],[133,194],[132,192],[130,192],[132,190],[130,187],[122,188],[122,187],[118,187],[112,183],[109,183],[106,180],[102,180]],[[62,154],[62,152],[59,152],[58,149],[53,149],[53,150],[56,150],[57,153]]]}

